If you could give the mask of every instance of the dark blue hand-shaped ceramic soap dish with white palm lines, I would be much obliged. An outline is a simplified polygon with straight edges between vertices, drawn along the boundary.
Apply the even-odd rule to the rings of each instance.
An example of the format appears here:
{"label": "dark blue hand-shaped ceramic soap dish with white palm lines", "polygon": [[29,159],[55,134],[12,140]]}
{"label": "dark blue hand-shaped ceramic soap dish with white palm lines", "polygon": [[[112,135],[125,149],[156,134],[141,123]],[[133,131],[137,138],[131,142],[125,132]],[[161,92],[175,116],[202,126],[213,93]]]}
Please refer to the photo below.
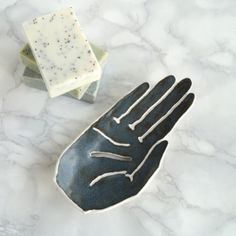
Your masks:
{"label": "dark blue hand-shaped ceramic soap dish with white palm lines", "polygon": [[115,104],[61,154],[56,183],[84,211],[136,195],[158,169],[163,140],[191,106],[190,79],[174,76],[151,91],[143,83]]}

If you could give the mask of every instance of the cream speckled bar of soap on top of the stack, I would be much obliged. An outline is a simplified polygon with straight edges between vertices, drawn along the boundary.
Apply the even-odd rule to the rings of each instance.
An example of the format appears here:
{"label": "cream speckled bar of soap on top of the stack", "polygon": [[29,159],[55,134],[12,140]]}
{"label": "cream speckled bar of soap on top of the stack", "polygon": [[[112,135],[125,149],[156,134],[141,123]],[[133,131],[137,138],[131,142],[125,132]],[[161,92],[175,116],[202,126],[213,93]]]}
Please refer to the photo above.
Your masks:
{"label": "cream speckled bar of soap on top of the stack", "polygon": [[51,97],[100,79],[101,67],[72,8],[40,16],[23,27]]}

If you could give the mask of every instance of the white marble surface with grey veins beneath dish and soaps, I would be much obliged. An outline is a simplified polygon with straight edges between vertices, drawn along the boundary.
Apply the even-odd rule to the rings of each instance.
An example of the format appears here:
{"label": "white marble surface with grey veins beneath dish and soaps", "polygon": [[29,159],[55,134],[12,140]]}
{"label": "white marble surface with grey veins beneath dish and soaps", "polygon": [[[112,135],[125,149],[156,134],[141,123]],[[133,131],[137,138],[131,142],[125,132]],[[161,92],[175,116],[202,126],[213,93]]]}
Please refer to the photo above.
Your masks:
{"label": "white marble surface with grey veins beneath dish and soaps", "polygon": [[[73,5],[110,57],[97,103],[21,82],[21,23]],[[0,1],[0,235],[234,236],[235,0]],[[169,135],[158,175],[135,199],[83,214],[52,181],[61,151],[142,81],[190,77],[196,100]]]}

